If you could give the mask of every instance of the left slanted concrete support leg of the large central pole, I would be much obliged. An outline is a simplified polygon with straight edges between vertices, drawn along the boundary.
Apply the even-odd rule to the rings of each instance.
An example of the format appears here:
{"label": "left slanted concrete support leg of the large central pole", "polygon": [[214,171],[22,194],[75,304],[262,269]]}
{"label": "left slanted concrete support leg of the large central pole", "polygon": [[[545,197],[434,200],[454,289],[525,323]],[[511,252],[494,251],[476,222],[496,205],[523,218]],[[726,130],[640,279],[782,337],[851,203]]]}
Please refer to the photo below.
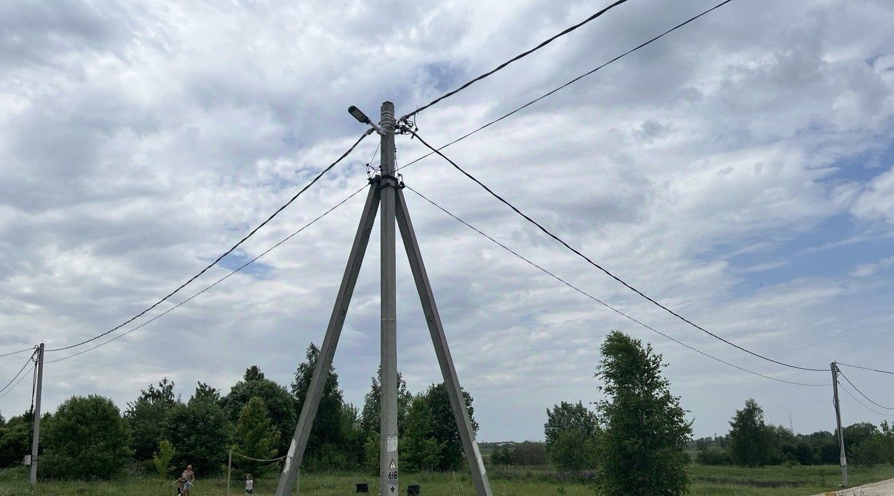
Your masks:
{"label": "left slanted concrete support leg of the large central pole", "polygon": [[376,184],[373,184],[369,188],[367,204],[363,208],[363,215],[360,218],[357,234],[354,236],[354,245],[350,248],[348,265],[344,269],[342,285],[339,287],[338,297],[335,298],[332,316],[329,317],[329,325],[326,327],[323,345],[320,347],[320,354],[316,359],[314,375],[310,380],[308,394],[301,407],[298,425],[295,426],[295,434],[291,439],[289,453],[285,458],[283,474],[280,475],[279,484],[276,486],[276,496],[290,495],[291,489],[295,485],[295,480],[298,478],[298,468],[301,465],[301,458],[304,457],[304,450],[308,446],[310,428],[314,424],[316,408],[319,407],[320,398],[323,396],[326,379],[329,376],[329,367],[333,363],[335,348],[338,345],[339,336],[342,334],[345,316],[348,315],[350,297],[354,293],[355,284],[357,284],[360,265],[363,265],[363,256],[367,251],[369,234],[373,230],[375,213],[378,207],[379,189]]}

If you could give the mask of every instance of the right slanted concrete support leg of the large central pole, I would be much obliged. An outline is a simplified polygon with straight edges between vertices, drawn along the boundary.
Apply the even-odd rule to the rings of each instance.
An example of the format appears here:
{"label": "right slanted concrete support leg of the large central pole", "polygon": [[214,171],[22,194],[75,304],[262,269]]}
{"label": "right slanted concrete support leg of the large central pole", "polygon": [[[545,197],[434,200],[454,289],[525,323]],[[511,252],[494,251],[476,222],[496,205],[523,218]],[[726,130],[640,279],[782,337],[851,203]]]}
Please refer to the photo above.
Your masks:
{"label": "right slanted concrete support leg of the large central pole", "polygon": [[446,386],[451,408],[453,408],[453,416],[456,418],[456,424],[460,430],[462,447],[466,452],[468,467],[472,472],[472,481],[475,483],[478,496],[492,496],[491,483],[487,480],[485,463],[481,459],[481,452],[478,450],[477,441],[475,441],[475,431],[472,429],[472,422],[468,417],[466,401],[460,389],[460,379],[457,377],[456,367],[453,366],[450,347],[447,345],[447,338],[444,336],[443,324],[441,324],[441,315],[438,314],[438,308],[434,303],[432,286],[428,282],[426,266],[422,262],[422,253],[419,251],[416,232],[413,231],[413,224],[409,220],[407,202],[401,189],[397,190],[397,223],[401,229],[403,246],[409,257],[409,267],[413,272],[413,279],[416,281],[419,299],[422,301],[422,309],[426,314],[428,332],[432,335],[434,354],[438,357],[444,386]]}

